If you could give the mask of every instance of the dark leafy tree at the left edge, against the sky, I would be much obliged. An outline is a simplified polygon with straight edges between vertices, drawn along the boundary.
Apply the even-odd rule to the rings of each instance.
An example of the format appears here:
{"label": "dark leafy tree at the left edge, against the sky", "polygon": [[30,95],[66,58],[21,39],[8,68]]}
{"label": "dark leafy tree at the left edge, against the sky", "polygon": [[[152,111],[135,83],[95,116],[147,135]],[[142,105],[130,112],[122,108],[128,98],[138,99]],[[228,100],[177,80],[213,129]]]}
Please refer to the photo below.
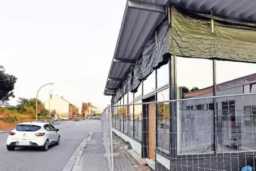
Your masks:
{"label": "dark leafy tree at the left edge, against the sky", "polygon": [[0,101],[8,101],[14,96],[14,84],[17,78],[13,75],[5,73],[5,69],[0,65]]}

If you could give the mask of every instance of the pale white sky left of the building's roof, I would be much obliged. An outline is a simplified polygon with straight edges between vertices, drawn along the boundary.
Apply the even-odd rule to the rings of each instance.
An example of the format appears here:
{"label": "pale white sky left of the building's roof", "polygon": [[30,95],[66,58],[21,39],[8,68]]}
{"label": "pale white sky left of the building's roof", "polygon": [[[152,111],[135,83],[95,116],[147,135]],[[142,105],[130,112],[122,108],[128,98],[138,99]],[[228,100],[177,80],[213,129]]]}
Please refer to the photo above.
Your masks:
{"label": "pale white sky left of the building's roof", "polygon": [[104,88],[126,0],[0,0],[0,65],[19,97],[46,101],[49,90],[81,108],[106,107]]}

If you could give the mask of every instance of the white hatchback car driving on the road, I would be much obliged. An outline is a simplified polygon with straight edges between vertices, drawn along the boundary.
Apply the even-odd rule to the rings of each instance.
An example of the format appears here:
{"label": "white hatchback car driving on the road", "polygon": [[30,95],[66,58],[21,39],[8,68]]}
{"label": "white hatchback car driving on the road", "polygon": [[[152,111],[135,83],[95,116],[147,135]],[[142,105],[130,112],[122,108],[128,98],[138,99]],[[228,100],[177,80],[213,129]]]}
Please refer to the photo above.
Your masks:
{"label": "white hatchback car driving on the road", "polygon": [[42,151],[47,151],[50,145],[58,145],[61,141],[58,131],[59,129],[49,123],[20,123],[9,132],[6,140],[7,150],[13,151],[16,147],[40,147]]}

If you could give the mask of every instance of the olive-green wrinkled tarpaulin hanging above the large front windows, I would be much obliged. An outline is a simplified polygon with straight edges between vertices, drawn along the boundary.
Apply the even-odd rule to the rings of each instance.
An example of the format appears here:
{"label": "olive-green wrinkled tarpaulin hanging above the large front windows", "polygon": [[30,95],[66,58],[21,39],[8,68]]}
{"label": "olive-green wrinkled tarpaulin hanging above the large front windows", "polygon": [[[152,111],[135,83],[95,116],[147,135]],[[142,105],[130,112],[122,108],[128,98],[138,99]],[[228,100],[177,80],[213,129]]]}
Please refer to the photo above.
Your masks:
{"label": "olive-green wrinkled tarpaulin hanging above the large front windows", "polygon": [[[214,33],[211,32],[214,19]],[[169,53],[183,57],[256,62],[255,23],[171,9]]]}

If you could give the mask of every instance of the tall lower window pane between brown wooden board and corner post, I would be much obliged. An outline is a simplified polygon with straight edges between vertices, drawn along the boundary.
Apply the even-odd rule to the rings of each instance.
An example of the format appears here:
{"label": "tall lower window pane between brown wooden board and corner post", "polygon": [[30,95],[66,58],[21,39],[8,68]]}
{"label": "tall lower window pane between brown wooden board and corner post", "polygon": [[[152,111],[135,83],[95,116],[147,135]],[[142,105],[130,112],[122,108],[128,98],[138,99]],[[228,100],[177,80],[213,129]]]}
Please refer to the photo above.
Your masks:
{"label": "tall lower window pane between brown wooden board and corner post", "polygon": [[[157,101],[165,101],[169,99],[169,89],[165,89],[157,93]],[[169,103],[159,102],[157,104],[157,149],[169,154],[170,142],[170,119],[169,119]]]}

